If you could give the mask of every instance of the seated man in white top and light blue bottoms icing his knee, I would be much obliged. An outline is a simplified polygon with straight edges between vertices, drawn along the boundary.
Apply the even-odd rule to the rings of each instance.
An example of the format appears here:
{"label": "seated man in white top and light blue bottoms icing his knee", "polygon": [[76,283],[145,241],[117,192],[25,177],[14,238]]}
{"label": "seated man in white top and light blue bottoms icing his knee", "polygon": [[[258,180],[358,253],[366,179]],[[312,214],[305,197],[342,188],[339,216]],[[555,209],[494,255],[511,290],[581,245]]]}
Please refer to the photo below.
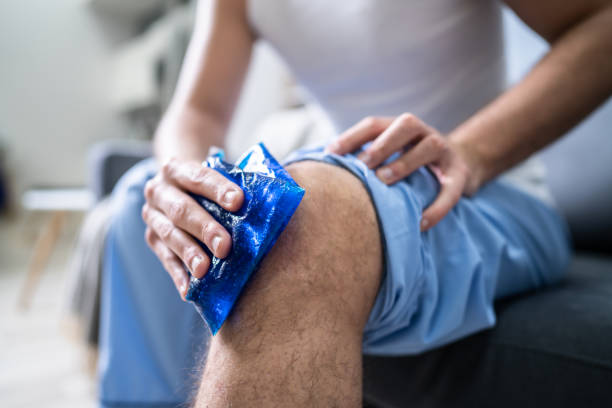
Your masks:
{"label": "seated man in white top and light blue bottoms icing his knee", "polygon": [[[362,352],[448,343],[494,324],[495,298],[562,277],[567,242],[545,186],[487,182],[610,95],[612,6],[506,3],[551,51],[505,92],[494,2],[223,0],[210,13],[201,8],[156,135],[161,170],[153,177],[141,166],[118,189],[144,190],[147,243],[182,296],[182,265],[201,277],[210,262],[193,237],[219,258],[231,250],[227,231],[186,191],[240,208],[240,189],[200,162],[223,145],[257,38],[278,49],[343,133],[325,151],[289,160],[306,196],[211,340],[197,406],[358,406]],[[143,370],[149,401],[180,403],[190,380],[175,364],[203,366],[192,346],[201,328],[155,272],[129,267],[144,229],[132,217],[139,200],[116,200],[123,208],[108,244],[106,299],[115,306],[106,316],[103,389],[142,383],[107,369],[117,364],[113,347],[136,336],[133,354],[152,356]],[[153,265],[148,256],[137,261]]]}

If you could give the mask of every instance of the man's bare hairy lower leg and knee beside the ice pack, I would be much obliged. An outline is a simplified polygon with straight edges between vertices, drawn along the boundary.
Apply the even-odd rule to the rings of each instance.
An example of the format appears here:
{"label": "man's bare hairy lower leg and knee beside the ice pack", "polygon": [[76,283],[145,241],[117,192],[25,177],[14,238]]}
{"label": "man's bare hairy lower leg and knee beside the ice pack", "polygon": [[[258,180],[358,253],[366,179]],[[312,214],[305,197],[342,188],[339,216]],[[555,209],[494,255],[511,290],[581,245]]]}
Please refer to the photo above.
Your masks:
{"label": "man's bare hairy lower leg and knee beside the ice pack", "polygon": [[343,169],[289,171],[306,195],[212,341],[198,407],[361,406],[362,331],[382,271],[376,214]]}

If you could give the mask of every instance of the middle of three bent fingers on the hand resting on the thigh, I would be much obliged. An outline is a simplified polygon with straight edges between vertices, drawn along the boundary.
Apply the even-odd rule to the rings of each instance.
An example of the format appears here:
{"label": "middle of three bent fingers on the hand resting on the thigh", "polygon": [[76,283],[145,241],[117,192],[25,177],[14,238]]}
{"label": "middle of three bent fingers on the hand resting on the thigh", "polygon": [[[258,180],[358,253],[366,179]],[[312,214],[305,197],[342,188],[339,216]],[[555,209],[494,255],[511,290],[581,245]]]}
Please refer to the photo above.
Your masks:
{"label": "middle of three bent fingers on the hand resting on the thigh", "polygon": [[393,153],[425,136],[430,129],[416,116],[405,113],[398,118],[363,151],[358,158],[369,168],[378,167]]}

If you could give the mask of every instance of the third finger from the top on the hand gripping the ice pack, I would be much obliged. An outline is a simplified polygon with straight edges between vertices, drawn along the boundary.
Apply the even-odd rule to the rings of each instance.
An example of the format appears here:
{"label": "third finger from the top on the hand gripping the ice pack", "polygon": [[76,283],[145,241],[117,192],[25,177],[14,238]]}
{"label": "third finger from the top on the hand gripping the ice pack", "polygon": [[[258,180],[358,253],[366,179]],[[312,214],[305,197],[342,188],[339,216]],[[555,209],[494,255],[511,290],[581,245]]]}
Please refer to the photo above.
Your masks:
{"label": "third finger from the top on the hand gripping the ice pack", "polygon": [[199,279],[206,274],[210,259],[193,238],[148,204],[142,209],[142,217],[164,246],[187,265],[193,276]]}

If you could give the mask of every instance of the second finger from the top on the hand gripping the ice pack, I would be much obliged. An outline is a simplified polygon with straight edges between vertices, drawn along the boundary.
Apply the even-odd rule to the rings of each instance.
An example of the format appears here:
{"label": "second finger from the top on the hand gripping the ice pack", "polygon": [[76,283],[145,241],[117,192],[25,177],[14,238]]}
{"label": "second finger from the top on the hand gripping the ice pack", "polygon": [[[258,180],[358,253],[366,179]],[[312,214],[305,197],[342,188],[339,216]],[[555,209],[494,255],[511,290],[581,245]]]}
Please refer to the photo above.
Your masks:
{"label": "second finger from the top on the hand gripping the ice pack", "polygon": [[232,246],[229,233],[193,198],[173,185],[156,183],[155,179],[149,183],[151,187],[145,188],[148,202],[161,210],[172,224],[202,241],[217,258],[229,254]]}

